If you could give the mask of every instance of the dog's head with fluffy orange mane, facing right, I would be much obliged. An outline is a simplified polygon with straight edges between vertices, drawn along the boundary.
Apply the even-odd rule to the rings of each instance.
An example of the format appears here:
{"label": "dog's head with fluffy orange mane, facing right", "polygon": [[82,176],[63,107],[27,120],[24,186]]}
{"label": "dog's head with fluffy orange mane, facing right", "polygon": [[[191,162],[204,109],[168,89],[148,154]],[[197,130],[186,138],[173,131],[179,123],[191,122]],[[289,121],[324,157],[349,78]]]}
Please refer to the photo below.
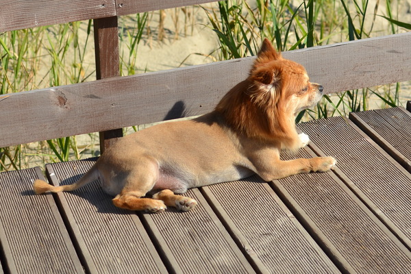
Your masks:
{"label": "dog's head with fluffy orange mane, facing right", "polygon": [[216,111],[241,134],[294,150],[299,147],[295,116],[315,105],[322,92],[301,64],[282,58],[265,39],[249,77],[221,99]]}

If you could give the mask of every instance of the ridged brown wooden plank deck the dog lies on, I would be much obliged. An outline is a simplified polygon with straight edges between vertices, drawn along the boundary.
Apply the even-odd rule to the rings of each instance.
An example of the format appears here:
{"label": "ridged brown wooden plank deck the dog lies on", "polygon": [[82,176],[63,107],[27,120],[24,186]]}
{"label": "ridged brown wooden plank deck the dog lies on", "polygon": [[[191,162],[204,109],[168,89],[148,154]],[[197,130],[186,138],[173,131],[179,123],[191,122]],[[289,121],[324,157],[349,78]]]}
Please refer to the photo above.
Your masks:
{"label": "ridged brown wooden plank deck the dog lies on", "polygon": [[[335,171],[189,190],[199,206],[115,208],[98,182],[34,195],[39,168],[0,173],[0,273],[410,273],[411,114],[372,110],[299,124],[298,155]],[[95,159],[47,165],[71,184]]]}

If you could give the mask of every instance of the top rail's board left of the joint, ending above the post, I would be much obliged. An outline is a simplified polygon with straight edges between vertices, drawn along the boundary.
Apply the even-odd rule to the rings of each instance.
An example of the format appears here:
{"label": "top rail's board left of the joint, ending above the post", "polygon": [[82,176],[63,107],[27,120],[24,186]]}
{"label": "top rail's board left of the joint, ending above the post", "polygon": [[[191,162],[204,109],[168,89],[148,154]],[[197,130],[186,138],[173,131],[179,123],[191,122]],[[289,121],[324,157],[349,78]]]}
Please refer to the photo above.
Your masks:
{"label": "top rail's board left of the joint, ending above the post", "polygon": [[0,32],[116,15],[114,0],[2,1]]}

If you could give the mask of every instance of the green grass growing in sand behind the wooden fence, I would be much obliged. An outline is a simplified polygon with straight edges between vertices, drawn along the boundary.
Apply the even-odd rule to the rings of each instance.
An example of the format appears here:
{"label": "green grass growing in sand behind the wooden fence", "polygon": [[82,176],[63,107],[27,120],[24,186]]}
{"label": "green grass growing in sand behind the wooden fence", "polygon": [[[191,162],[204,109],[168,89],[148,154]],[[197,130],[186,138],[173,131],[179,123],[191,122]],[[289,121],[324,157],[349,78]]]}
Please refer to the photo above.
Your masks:
{"label": "green grass growing in sand behind the wooden fence", "polygon": [[[388,25],[386,34],[404,32],[411,25],[398,18],[399,5],[389,0],[377,1],[375,6],[357,0],[229,0],[204,5],[201,12],[208,18],[206,27],[219,39],[219,48],[208,58],[228,60],[255,55],[264,38],[273,41],[277,49],[289,51],[379,36],[376,25],[381,23]],[[384,12],[380,12],[382,8]],[[141,71],[137,68],[141,42],[190,36],[194,13],[189,7],[121,17],[121,75]],[[164,25],[164,16],[173,18],[172,26]],[[180,16],[184,16],[183,27],[179,25]],[[0,95],[95,79],[92,36],[92,21],[0,34]],[[367,110],[371,103],[381,108],[401,105],[400,93],[401,84],[392,84],[328,95],[312,110],[302,112],[298,120],[346,115]],[[99,153],[98,142],[96,134],[88,134],[0,148],[0,171],[95,155]]]}

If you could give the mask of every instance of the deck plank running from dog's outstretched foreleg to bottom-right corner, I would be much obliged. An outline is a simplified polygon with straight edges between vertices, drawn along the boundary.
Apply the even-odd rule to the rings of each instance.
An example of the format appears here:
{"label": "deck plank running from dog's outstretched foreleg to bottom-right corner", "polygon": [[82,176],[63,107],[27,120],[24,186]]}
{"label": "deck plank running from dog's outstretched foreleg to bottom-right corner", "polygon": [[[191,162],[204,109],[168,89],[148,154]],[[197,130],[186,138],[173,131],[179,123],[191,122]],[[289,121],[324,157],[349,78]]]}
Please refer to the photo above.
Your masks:
{"label": "deck plank running from dog's outstretched foreleg to bottom-right corner", "polygon": [[[314,155],[303,149],[282,158]],[[409,273],[410,251],[332,171],[294,175],[272,186],[344,272]]]}

